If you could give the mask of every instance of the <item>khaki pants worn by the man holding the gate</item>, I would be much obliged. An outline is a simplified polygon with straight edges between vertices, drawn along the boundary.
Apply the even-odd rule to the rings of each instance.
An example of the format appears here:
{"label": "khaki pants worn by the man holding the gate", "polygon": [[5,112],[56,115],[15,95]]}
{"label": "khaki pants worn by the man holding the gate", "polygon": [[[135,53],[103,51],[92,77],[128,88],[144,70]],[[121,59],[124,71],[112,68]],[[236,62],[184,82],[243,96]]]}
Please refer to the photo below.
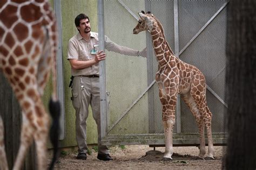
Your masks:
{"label": "khaki pants worn by the man holding the gate", "polygon": [[[83,90],[81,90],[81,77],[84,86]],[[109,154],[107,146],[100,144],[99,77],[75,76],[72,86],[72,104],[76,110],[76,139],[78,152],[87,153],[86,119],[89,114],[89,105],[91,105],[92,116],[96,121],[98,129],[98,153]]]}

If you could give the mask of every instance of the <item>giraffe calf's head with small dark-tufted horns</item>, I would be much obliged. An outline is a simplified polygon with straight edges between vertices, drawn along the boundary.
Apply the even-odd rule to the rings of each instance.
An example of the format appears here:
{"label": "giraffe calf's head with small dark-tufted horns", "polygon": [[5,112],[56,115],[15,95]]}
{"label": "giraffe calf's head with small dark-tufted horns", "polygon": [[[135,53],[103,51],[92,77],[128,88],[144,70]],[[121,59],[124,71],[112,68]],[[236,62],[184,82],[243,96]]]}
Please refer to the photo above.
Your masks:
{"label": "giraffe calf's head with small dark-tufted horns", "polygon": [[142,11],[142,12],[139,12],[139,16],[140,16],[140,19],[138,20],[138,24],[136,25],[136,27],[134,27],[133,29],[133,34],[138,34],[139,32],[147,31],[147,30],[151,32],[154,25],[154,19],[151,12],[147,12],[145,14],[145,12]]}

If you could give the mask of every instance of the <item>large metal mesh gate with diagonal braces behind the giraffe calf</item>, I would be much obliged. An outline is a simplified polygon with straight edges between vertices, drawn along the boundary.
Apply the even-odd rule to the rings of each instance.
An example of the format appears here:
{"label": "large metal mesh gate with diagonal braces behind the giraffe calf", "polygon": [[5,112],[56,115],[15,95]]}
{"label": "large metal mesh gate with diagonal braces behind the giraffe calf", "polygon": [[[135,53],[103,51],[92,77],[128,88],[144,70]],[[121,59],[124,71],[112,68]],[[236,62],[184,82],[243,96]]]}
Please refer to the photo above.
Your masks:
{"label": "large metal mesh gate with diagonal braces behind the giraffe calf", "polygon": [[[100,48],[104,36],[138,51],[142,56],[118,54],[105,46],[107,58],[100,63],[100,109],[104,145],[163,145],[164,129],[158,86],[158,63],[151,36],[133,35],[138,12],[151,11],[165,30],[165,37],[181,60],[198,67],[207,81],[207,103],[212,111],[215,145],[226,143],[225,98],[226,26],[228,1],[98,1]],[[114,10],[113,10],[114,9]],[[178,98],[173,145],[198,145],[196,121]],[[206,141],[207,143],[207,141]]]}

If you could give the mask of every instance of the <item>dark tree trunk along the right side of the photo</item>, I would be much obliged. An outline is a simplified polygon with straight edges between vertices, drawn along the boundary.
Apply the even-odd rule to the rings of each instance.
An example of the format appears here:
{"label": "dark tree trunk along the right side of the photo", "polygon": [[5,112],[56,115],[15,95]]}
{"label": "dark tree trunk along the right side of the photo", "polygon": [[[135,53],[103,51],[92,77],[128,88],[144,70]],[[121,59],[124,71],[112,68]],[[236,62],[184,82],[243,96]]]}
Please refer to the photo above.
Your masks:
{"label": "dark tree trunk along the right side of the photo", "polygon": [[256,169],[256,1],[230,1],[226,169]]}

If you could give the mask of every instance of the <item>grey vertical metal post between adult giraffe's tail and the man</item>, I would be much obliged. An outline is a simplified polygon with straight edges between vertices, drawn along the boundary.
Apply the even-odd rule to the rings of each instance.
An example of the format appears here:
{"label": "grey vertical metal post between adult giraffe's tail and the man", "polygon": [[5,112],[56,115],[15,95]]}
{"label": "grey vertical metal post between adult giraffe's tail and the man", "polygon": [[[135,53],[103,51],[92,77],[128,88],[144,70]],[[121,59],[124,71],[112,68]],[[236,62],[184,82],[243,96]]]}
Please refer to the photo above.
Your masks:
{"label": "grey vertical metal post between adult giraffe's tail and the man", "polygon": [[62,4],[60,0],[54,1],[55,15],[58,26],[58,48],[57,48],[57,95],[60,102],[59,140],[65,138],[65,97],[63,82],[63,62],[62,62]]}

